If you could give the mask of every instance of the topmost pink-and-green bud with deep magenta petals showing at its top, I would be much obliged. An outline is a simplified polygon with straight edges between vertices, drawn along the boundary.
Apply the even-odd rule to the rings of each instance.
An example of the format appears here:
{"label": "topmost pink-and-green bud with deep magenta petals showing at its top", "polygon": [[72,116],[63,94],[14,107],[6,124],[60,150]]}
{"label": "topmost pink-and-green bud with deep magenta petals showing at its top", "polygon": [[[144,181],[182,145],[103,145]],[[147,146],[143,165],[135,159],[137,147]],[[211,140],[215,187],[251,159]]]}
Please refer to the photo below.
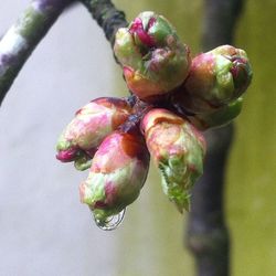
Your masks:
{"label": "topmost pink-and-green bud with deep magenta petals showing at its top", "polygon": [[114,52],[129,89],[153,102],[181,85],[190,68],[190,51],[162,15],[146,11],[116,34]]}

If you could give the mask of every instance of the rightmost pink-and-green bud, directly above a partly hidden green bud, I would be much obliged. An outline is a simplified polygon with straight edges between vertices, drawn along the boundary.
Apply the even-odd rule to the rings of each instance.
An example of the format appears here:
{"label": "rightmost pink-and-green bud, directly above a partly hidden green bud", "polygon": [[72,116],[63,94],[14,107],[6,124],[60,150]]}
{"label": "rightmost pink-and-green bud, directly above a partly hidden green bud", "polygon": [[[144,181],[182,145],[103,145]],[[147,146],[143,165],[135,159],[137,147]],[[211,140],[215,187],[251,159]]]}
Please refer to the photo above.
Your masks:
{"label": "rightmost pink-and-green bud, directly above a partly hidden green bud", "polygon": [[192,60],[188,78],[174,96],[189,113],[210,113],[238,98],[252,81],[245,51],[222,45]]}

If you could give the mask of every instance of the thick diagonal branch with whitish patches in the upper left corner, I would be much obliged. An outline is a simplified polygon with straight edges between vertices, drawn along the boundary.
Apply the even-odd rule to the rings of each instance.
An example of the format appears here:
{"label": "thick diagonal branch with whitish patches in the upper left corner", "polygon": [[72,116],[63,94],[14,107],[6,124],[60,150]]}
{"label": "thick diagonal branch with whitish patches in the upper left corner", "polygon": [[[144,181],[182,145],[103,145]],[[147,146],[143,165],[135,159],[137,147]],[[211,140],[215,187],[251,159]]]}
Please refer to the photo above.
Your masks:
{"label": "thick diagonal branch with whitish patches in the upper left corner", "polygon": [[25,61],[73,0],[33,0],[0,41],[0,105]]}

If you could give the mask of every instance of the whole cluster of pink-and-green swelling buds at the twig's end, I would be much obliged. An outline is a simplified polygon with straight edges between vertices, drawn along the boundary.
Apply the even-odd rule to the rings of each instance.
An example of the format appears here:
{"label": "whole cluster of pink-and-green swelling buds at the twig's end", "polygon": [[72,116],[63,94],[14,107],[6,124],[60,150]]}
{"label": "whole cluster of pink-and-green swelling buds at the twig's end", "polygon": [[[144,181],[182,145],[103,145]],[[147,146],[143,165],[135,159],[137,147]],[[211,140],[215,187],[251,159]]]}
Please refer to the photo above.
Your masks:
{"label": "whole cluster of pink-and-green swelling buds at the twig's end", "polygon": [[190,190],[203,173],[201,130],[241,113],[252,79],[248,57],[222,45],[192,59],[171,23],[149,11],[117,31],[114,52],[132,95],[81,108],[57,141],[56,158],[89,168],[81,201],[102,223],[137,199],[150,157],[164,194],[180,212],[189,210]]}

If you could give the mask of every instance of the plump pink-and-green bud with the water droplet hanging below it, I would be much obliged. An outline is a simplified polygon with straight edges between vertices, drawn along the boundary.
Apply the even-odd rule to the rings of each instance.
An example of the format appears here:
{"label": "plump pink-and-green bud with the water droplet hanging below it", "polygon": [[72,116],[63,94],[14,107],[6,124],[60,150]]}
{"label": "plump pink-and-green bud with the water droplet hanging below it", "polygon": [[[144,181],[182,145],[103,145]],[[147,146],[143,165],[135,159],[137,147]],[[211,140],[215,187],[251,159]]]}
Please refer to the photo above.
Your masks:
{"label": "plump pink-and-green bud with the water droplet hanging below it", "polygon": [[138,198],[148,168],[149,153],[141,135],[115,131],[105,138],[93,158],[89,176],[79,187],[81,201],[104,225],[109,216]]}

